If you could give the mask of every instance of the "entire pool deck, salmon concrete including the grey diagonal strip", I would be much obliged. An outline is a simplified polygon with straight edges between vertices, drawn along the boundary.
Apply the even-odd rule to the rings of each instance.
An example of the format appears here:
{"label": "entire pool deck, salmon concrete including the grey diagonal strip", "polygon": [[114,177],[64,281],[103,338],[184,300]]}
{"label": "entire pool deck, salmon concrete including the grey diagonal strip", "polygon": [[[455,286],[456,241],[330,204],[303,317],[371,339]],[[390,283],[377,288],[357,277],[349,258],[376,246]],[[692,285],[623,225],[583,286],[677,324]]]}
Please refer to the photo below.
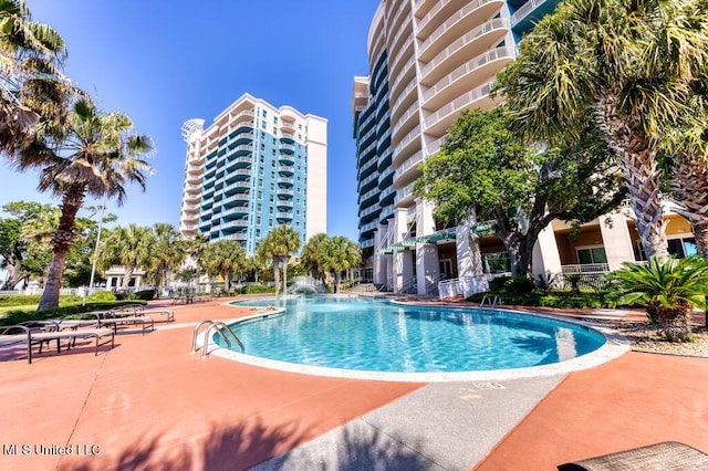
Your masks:
{"label": "entire pool deck, salmon concrete including the grey diagonal strip", "polygon": [[708,358],[627,353],[478,383],[314,377],[190,354],[197,322],[251,314],[223,302],[152,302],[175,322],[122,329],[97,356],[28,365],[0,348],[0,469],[553,470],[667,440],[708,451]]}

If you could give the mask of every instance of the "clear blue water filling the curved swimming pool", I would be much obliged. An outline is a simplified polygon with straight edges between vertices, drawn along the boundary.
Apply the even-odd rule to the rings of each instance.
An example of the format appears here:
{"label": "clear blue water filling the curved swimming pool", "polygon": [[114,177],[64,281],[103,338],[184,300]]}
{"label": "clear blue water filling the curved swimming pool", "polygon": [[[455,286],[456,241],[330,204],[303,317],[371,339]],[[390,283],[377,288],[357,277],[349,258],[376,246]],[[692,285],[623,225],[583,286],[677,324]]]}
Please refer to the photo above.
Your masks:
{"label": "clear blue water filling the curved swimming pool", "polygon": [[524,368],[574,358],[605,343],[603,335],[581,325],[502,311],[403,306],[348,296],[235,304],[287,310],[283,315],[231,324],[247,355],[329,368],[406,373]]}

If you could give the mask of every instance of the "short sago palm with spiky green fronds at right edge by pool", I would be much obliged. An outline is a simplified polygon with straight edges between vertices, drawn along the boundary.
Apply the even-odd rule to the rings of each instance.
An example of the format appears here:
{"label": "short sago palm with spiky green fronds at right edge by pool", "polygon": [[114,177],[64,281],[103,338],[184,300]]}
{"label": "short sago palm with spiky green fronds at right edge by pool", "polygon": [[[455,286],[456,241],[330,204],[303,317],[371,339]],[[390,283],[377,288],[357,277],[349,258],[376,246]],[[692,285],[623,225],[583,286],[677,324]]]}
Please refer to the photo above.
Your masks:
{"label": "short sago palm with spiky green fronds at right edge by pool", "polygon": [[685,259],[654,257],[648,264],[624,263],[610,280],[623,296],[620,302],[641,301],[647,316],[658,323],[669,341],[690,339],[694,306],[706,308],[708,262],[698,257]]}

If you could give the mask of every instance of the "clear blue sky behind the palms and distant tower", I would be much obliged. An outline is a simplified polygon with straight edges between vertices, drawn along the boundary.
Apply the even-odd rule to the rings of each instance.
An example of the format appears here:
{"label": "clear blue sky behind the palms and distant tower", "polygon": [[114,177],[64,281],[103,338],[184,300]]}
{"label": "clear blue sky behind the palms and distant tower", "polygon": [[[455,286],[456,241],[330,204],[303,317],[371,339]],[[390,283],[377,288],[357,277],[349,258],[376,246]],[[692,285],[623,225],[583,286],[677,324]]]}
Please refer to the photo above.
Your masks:
{"label": "clear blue sky behind the palms and distant tower", "polygon": [[[178,227],[185,121],[212,119],[243,93],[329,119],[327,233],[356,240],[352,90],[367,75],[366,38],[378,0],[27,0],[66,41],[65,73],[106,112],[128,114],[157,151],[147,190],[107,210],[117,223]],[[59,200],[37,174],[0,163],[0,206]],[[94,205],[95,201],[87,201]]]}

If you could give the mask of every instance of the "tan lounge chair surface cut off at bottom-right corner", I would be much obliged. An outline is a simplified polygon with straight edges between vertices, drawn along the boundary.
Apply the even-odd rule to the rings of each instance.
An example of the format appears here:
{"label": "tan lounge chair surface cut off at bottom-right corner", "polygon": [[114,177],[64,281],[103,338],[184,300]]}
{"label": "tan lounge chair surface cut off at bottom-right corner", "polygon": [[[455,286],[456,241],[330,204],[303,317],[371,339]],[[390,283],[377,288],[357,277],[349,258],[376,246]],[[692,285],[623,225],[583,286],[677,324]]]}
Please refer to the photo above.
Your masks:
{"label": "tan lounge chair surface cut off at bottom-right corner", "polygon": [[676,441],[634,448],[565,463],[559,471],[684,471],[708,470],[708,454]]}

